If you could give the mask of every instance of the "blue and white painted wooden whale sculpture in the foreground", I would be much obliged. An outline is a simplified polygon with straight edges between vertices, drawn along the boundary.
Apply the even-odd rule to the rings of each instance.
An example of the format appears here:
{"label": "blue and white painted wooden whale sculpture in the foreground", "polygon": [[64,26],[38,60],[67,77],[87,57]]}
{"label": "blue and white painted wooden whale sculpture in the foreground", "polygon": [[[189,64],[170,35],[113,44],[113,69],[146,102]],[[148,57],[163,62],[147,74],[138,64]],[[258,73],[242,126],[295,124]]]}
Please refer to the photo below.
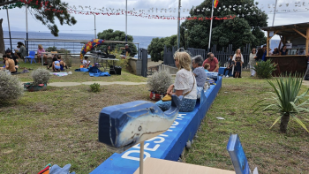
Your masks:
{"label": "blue and white painted wooden whale sculpture in the foreground", "polygon": [[103,108],[99,117],[99,141],[109,150],[126,149],[166,132],[178,115],[183,96],[172,95],[170,110],[163,112],[155,103],[127,102]]}

